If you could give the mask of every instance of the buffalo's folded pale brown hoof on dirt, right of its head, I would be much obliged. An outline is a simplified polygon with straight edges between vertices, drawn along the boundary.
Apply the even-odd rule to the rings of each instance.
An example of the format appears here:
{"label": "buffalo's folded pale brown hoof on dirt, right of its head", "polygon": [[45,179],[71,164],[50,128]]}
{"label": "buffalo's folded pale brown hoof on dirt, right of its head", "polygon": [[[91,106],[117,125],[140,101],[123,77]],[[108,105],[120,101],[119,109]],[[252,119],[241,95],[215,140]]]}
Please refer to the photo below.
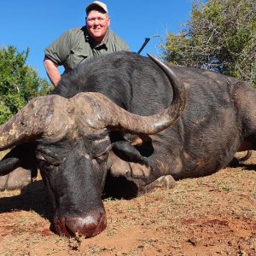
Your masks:
{"label": "buffalo's folded pale brown hoof on dirt, right of its head", "polygon": [[145,194],[154,191],[154,189],[173,189],[175,186],[175,179],[172,175],[161,176],[154,182],[146,185],[142,190],[139,191],[139,194]]}

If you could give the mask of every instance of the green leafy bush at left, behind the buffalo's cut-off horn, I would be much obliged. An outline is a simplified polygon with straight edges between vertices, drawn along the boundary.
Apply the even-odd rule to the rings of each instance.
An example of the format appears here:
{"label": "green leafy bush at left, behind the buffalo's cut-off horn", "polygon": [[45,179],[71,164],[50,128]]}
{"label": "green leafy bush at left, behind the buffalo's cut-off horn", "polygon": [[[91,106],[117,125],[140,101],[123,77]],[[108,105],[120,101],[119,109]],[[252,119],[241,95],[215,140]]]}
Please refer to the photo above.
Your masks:
{"label": "green leafy bush at left, behind the buffalo's cut-off horn", "polygon": [[29,49],[18,52],[14,46],[0,49],[0,124],[5,123],[36,96],[49,94],[51,85],[38,78],[32,67],[26,66]]}

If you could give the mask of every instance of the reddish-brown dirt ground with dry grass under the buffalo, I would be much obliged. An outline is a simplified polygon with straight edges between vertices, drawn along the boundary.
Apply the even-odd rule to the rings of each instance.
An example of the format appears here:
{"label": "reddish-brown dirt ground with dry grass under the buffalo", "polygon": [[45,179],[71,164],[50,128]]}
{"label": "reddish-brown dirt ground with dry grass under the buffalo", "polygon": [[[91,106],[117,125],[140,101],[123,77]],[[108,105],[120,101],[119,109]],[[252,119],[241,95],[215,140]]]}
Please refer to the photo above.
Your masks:
{"label": "reddish-brown dirt ground with dry grass under the buffalo", "polygon": [[44,184],[0,193],[0,255],[256,255],[256,154],[244,165],[178,181],[130,201],[108,198],[90,238],[51,231]]}

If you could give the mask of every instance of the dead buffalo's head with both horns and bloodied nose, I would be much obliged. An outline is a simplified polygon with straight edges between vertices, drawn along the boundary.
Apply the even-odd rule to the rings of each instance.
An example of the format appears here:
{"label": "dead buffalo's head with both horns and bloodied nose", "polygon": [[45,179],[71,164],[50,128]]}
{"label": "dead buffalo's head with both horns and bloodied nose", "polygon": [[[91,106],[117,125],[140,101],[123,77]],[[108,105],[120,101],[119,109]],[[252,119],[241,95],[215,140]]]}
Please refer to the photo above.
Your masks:
{"label": "dead buffalo's head with both horns and bloodied nose", "polygon": [[[150,57],[173,88],[172,104],[161,113],[138,116],[96,92],[79,93],[70,99],[51,95],[28,102],[0,127],[0,150],[33,143],[55,209],[58,234],[90,237],[105,229],[101,196],[111,165],[110,131],[154,134],[172,125],[183,112],[183,84],[169,67]],[[10,172],[10,166],[0,170],[0,175]]]}

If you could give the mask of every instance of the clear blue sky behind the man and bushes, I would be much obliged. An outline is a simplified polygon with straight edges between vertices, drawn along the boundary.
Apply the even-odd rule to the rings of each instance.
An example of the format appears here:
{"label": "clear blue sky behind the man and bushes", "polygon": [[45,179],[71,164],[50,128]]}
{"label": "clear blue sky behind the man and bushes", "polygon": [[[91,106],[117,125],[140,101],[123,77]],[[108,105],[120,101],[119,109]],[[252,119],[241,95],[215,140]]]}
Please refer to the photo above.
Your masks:
{"label": "clear blue sky behind the man and bushes", "polygon": [[[30,49],[26,64],[47,78],[44,49],[63,32],[84,26],[85,7],[92,0],[1,0],[0,47]],[[141,55],[161,53],[167,32],[177,33],[189,20],[192,0],[103,0],[108,5],[110,28],[137,52],[145,38],[150,41]],[[60,72],[63,70],[60,68]]]}

